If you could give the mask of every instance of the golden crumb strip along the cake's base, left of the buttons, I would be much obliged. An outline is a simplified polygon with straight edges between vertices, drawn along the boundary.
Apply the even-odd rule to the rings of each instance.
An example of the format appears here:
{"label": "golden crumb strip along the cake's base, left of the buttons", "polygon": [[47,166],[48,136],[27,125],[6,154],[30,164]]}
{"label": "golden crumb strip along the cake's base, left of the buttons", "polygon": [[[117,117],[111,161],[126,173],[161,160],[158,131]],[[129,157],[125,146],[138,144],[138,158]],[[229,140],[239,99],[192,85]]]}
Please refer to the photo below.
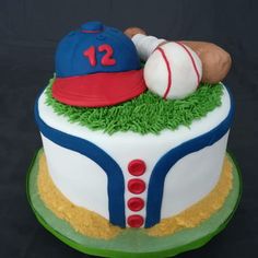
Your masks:
{"label": "golden crumb strip along the cake's base, left of the buttons", "polygon": [[37,184],[45,206],[59,219],[67,221],[77,232],[102,239],[110,239],[121,232],[120,227],[112,225],[96,212],[74,206],[57,189],[48,173],[45,154],[39,159]]}

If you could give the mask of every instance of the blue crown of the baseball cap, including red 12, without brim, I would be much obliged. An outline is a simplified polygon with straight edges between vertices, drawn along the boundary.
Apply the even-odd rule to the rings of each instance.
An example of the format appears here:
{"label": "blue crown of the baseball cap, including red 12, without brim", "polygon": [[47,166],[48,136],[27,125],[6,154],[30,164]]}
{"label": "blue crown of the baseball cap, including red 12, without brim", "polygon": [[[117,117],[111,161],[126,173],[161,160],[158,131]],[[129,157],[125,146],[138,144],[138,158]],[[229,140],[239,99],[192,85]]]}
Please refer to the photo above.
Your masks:
{"label": "blue crown of the baseball cap, including red 12, without brim", "polygon": [[140,59],[130,38],[99,22],[85,23],[64,36],[56,52],[58,78],[138,69]]}

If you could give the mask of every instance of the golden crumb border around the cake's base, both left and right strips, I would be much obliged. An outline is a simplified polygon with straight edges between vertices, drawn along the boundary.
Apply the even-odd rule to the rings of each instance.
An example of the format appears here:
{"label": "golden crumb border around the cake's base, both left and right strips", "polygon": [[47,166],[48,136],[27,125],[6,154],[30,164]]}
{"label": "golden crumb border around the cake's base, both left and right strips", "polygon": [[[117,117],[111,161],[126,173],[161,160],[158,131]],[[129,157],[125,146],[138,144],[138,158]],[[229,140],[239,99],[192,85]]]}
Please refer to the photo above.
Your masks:
{"label": "golden crumb border around the cake's base, both left and right strips", "polygon": [[[38,191],[45,206],[59,219],[67,221],[77,232],[94,238],[112,239],[126,231],[112,225],[108,220],[96,212],[78,207],[69,201],[55,186],[48,173],[44,153],[39,159],[38,171]],[[221,177],[208,196],[177,215],[163,219],[159,224],[143,231],[150,236],[165,236],[184,228],[198,226],[223,207],[232,186],[232,164],[228,157],[225,157]]]}

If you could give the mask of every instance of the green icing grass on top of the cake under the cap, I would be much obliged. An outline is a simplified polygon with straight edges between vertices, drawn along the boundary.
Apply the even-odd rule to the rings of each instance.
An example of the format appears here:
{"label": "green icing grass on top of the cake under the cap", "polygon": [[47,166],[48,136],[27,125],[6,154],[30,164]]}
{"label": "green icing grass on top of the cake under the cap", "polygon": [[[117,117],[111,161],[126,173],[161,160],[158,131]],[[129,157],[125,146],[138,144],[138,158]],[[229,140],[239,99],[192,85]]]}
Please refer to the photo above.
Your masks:
{"label": "green icing grass on top of the cake under the cap", "polygon": [[70,122],[78,122],[92,130],[108,134],[133,131],[141,134],[159,134],[164,129],[189,127],[194,120],[204,117],[221,105],[222,84],[201,83],[198,90],[184,99],[163,99],[150,91],[140,96],[110,107],[74,107],[52,97],[51,79],[46,89],[46,104]]}

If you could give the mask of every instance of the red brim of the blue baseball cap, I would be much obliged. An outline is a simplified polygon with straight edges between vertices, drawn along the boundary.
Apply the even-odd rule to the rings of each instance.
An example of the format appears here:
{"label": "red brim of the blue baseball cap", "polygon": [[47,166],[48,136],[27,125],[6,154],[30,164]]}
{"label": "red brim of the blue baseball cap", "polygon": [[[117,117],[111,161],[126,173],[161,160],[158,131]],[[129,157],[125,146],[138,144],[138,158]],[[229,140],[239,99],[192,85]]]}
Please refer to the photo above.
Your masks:
{"label": "red brim of the blue baseball cap", "polygon": [[71,106],[101,107],[129,101],[145,89],[143,71],[140,69],[57,78],[52,84],[52,96]]}

